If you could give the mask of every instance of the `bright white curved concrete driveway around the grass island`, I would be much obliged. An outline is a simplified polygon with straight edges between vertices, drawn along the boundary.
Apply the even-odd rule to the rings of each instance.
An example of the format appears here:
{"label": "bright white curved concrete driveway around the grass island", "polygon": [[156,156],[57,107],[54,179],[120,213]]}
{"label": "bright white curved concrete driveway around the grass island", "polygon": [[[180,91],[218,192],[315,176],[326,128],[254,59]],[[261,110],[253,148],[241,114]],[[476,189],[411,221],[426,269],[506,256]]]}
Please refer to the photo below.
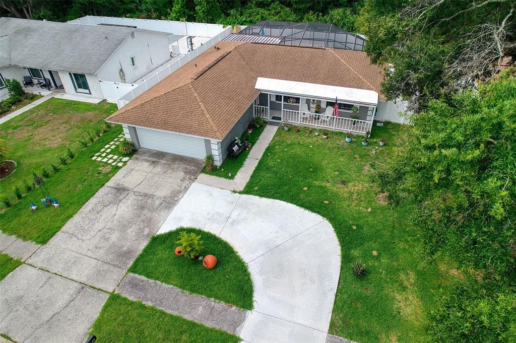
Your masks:
{"label": "bright white curved concrete driveway around the grass island", "polygon": [[178,226],[219,235],[248,265],[254,310],[241,338],[326,341],[341,266],[341,249],[327,220],[283,201],[195,182],[158,234]]}

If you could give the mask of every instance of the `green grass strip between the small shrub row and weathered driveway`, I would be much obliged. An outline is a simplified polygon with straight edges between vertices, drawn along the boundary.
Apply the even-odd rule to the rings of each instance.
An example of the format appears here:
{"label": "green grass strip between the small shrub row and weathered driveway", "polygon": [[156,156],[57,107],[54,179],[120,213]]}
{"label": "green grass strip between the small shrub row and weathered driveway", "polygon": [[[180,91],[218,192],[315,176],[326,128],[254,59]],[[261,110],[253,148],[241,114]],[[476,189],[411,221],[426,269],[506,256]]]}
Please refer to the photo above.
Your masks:
{"label": "green grass strip between the small shrub row and weathered driveway", "polygon": [[[91,156],[121,132],[120,126],[110,128],[87,148],[78,151],[66,166],[61,166],[57,173],[45,179],[43,189],[46,195],[59,201],[58,209],[53,206],[43,207],[40,202],[43,194],[39,189],[34,189],[21,201],[14,203],[12,207],[4,211],[2,231],[38,244],[49,241],[77,213],[80,207],[120,169],[117,166],[93,161]],[[34,213],[29,210],[30,202],[38,205],[38,209]]]}

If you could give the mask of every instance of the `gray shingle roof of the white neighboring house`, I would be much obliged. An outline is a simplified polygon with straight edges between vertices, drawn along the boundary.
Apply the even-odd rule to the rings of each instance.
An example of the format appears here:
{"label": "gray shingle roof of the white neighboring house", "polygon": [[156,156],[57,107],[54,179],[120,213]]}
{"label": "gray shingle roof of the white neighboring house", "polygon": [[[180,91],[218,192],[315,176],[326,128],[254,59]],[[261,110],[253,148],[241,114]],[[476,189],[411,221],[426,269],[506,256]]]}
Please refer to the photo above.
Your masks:
{"label": "gray shingle roof of the white neighboring house", "polygon": [[[9,64],[94,74],[133,28],[0,18],[0,55]],[[6,43],[7,42],[7,43]],[[5,65],[5,64],[4,64]]]}

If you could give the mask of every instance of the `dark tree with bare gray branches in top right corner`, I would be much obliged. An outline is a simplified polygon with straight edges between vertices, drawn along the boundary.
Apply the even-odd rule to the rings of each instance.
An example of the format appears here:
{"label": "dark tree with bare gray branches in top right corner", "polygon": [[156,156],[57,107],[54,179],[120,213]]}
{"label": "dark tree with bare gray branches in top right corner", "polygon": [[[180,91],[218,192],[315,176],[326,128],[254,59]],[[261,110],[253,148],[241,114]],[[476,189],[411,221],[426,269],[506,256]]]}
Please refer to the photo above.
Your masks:
{"label": "dark tree with bare gray branches in top right corner", "polygon": [[359,31],[385,66],[385,95],[418,110],[496,75],[516,56],[515,23],[511,0],[366,0]]}

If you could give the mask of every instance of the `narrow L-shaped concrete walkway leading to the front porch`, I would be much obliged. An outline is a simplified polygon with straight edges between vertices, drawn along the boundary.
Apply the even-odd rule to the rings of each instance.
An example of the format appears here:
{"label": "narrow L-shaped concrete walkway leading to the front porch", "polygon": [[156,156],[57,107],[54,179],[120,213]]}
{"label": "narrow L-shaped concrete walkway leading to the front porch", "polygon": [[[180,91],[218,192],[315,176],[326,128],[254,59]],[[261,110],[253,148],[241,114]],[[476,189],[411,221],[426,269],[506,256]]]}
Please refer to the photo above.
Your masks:
{"label": "narrow L-shaped concrete walkway leading to the front porch", "polygon": [[254,143],[254,145],[252,146],[249,155],[244,161],[244,165],[236,173],[234,179],[228,179],[224,177],[218,177],[201,173],[197,177],[196,182],[206,186],[212,186],[231,191],[239,192],[243,190],[249,182],[249,179],[251,178],[254,168],[256,168],[256,166],[258,165],[260,158],[262,158],[265,149],[267,149],[267,146],[269,146],[269,143],[276,134],[277,130],[278,126],[265,126],[265,129],[260,135],[260,138],[258,138],[256,143]]}

